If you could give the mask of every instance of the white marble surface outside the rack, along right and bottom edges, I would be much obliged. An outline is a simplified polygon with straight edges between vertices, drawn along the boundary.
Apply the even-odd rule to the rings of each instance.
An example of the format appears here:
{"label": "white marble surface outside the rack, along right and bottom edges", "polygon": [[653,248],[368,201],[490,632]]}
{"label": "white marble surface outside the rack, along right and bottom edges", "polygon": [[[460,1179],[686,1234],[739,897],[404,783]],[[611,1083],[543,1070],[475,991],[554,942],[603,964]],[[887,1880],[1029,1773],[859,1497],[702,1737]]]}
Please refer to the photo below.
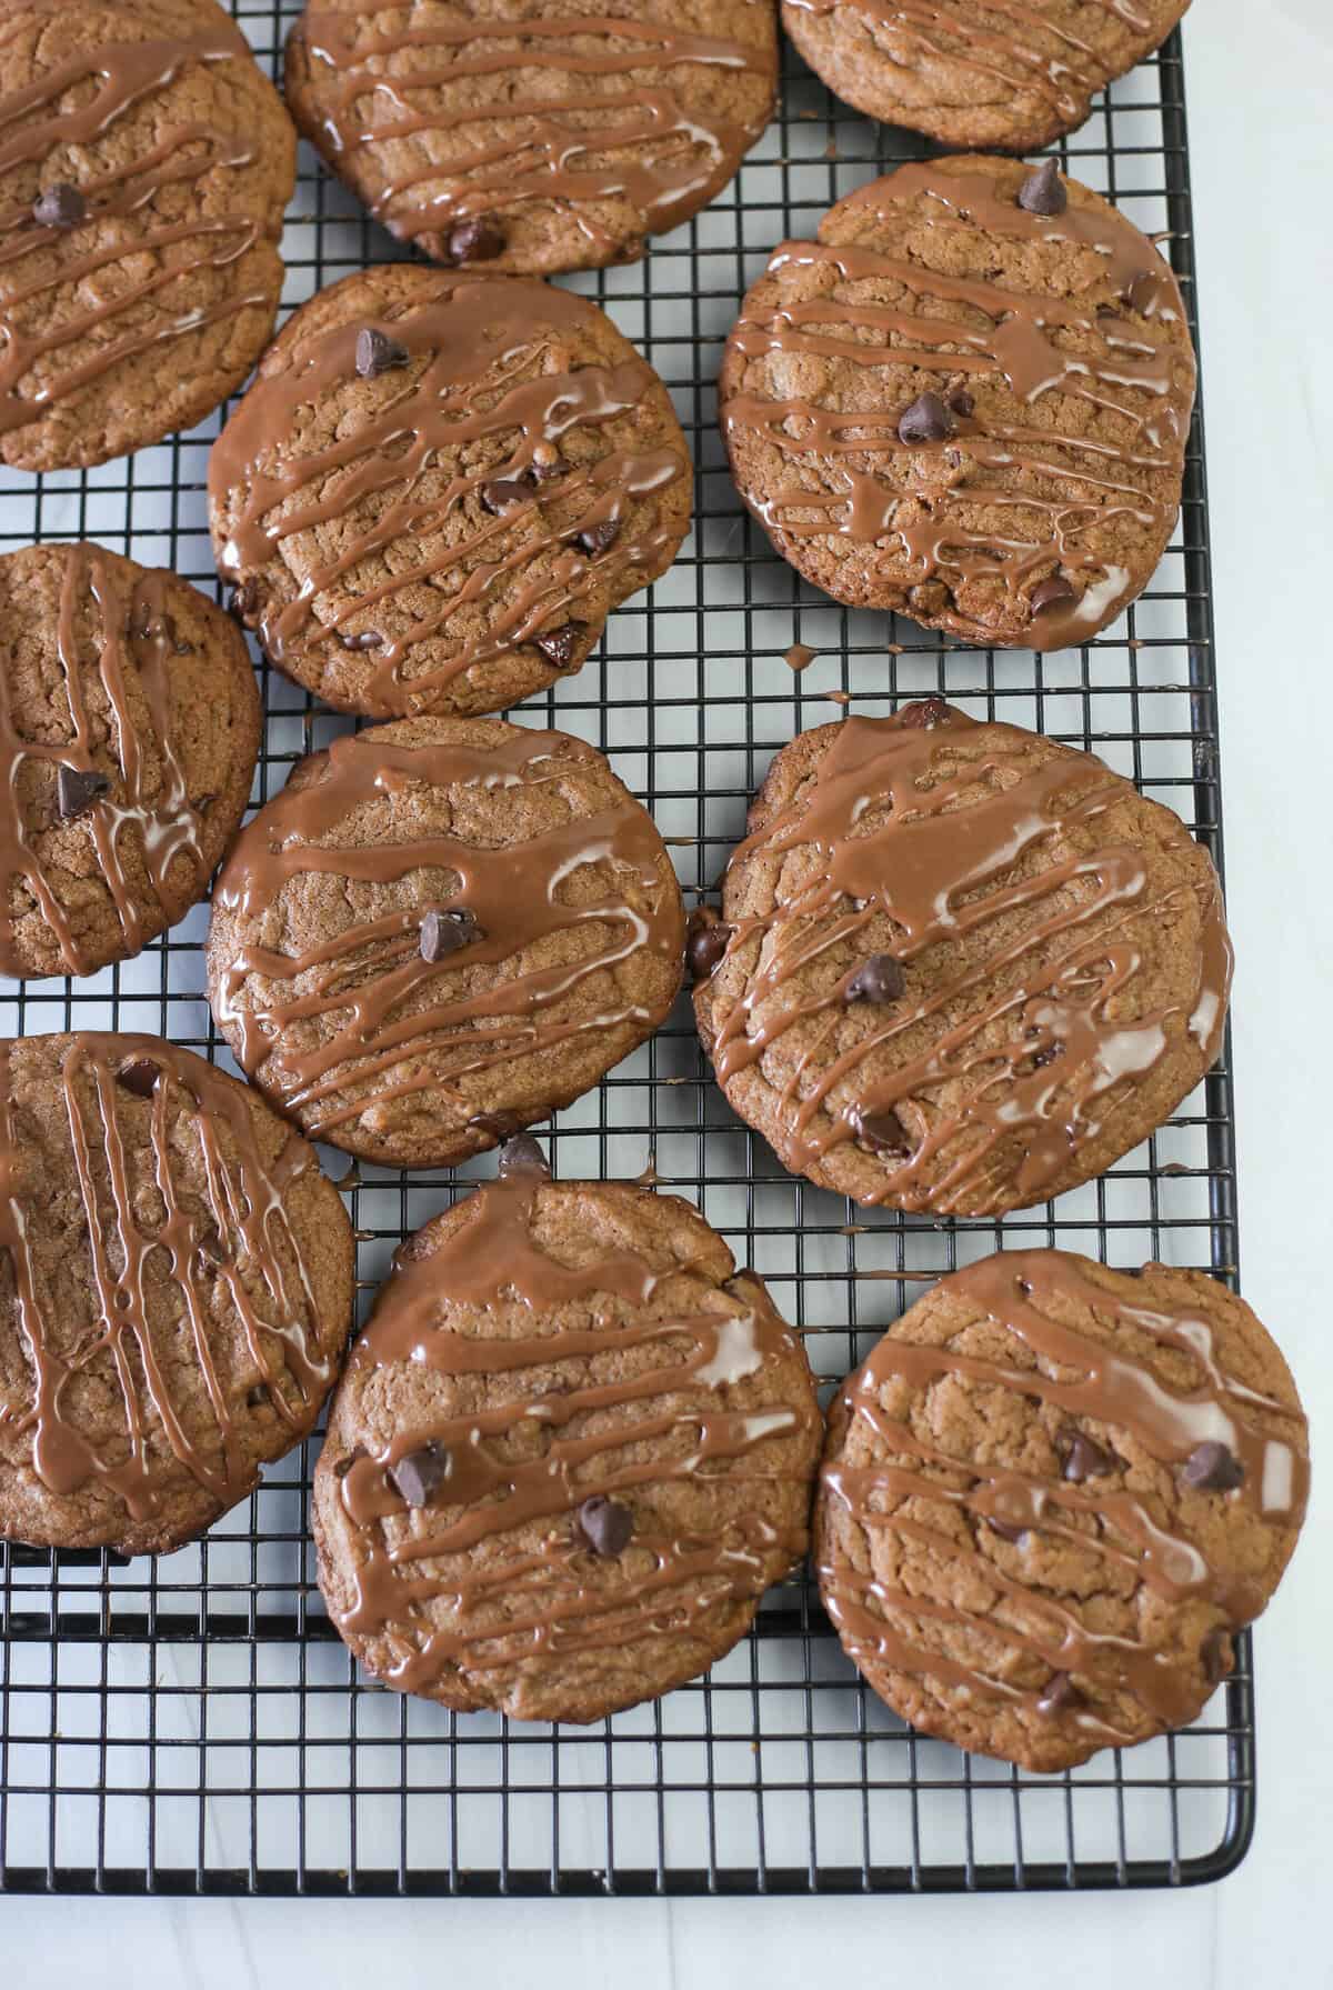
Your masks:
{"label": "white marble surface outside the rack, along right and bottom edges", "polygon": [[[1236,989],[1243,1286],[1277,1329],[1317,1439],[1333,1427],[1329,848],[1333,659],[1331,0],[1198,0],[1188,28],[1204,392],[1222,677]],[[1319,364],[1317,364],[1319,362]],[[1321,448],[1323,444],[1323,448]],[[1319,868],[1317,868],[1319,862]],[[1321,1449],[1317,1445],[1317,1449]],[[1005,1990],[1313,1990],[1333,1817],[1333,1494],[1257,1632],[1259,1827],[1222,1887],[1132,1898],[848,1902],[117,1902],[6,1900],[6,1974],[44,1990],[740,1976],[915,1976]]]}

